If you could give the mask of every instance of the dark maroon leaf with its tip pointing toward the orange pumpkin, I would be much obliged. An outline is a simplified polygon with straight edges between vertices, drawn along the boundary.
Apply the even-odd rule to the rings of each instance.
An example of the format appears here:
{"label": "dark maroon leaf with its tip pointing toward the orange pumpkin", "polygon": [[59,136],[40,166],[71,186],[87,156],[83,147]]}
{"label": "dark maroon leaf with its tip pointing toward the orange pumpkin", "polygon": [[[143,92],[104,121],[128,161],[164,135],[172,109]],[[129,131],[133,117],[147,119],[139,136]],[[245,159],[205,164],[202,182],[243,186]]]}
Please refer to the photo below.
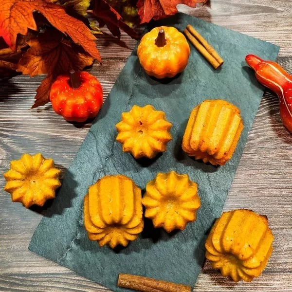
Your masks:
{"label": "dark maroon leaf with its tip pointing toward the orange pumpkin", "polygon": [[94,0],[93,10],[88,12],[92,13],[100,27],[107,25],[108,29],[115,37],[120,37],[120,29],[127,33],[130,37],[139,39],[140,36],[130,28],[123,20],[120,14],[110,7],[106,0]]}

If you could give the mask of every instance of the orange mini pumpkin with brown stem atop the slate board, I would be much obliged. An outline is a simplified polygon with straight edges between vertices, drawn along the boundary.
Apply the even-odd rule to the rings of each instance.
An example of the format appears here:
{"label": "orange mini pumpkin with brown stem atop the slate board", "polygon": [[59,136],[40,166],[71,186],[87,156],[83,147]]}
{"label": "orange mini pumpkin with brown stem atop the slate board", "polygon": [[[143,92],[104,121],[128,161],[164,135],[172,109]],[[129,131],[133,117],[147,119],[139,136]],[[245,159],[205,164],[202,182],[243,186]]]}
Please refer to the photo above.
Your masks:
{"label": "orange mini pumpkin with brown stem atop the slate board", "polygon": [[176,28],[160,26],[142,37],[137,54],[148,75],[156,78],[174,77],[186,67],[190,47]]}

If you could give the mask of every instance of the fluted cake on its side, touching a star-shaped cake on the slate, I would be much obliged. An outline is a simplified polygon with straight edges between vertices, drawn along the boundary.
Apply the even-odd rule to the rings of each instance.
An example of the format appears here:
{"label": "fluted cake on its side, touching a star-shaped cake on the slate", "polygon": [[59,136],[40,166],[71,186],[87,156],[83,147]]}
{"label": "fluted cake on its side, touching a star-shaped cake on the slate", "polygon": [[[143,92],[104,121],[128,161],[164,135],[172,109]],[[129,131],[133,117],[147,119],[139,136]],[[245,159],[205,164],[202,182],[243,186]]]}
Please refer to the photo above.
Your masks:
{"label": "fluted cake on its side, touching a star-shaped cake on the slate", "polygon": [[84,225],[100,246],[127,246],[143,230],[141,189],[124,175],[105,176],[84,198]]}

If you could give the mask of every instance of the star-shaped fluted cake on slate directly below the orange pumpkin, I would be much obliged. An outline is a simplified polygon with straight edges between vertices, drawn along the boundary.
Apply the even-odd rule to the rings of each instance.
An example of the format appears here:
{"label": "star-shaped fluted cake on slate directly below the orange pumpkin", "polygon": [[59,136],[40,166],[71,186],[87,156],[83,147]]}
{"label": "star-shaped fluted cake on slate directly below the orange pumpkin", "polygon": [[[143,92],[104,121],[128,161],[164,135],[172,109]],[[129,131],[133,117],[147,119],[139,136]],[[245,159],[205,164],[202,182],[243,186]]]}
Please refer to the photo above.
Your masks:
{"label": "star-shaped fluted cake on slate directly below the orange pumpkin", "polygon": [[132,153],[136,159],[154,158],[158,152],[166,150],[166,144],[172,139],[171,127],[163,111],[150,105],[133,106],[122,113],[122,121],[116,124],[116,140],[122,144],[124,152]]}

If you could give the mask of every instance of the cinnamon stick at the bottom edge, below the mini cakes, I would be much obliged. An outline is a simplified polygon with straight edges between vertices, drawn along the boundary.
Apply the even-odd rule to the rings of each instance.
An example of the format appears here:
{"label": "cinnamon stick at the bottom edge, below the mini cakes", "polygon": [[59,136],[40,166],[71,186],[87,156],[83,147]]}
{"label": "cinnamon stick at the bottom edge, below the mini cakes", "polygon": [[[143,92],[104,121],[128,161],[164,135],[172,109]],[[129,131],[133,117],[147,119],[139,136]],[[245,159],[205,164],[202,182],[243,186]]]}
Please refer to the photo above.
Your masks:
{"label": "cinnamon stick at the bottom edge, below the mini cakes", "polygon": [[122,273],[118,286],[140,292],[191,292],[191,287],[182,284]]}

